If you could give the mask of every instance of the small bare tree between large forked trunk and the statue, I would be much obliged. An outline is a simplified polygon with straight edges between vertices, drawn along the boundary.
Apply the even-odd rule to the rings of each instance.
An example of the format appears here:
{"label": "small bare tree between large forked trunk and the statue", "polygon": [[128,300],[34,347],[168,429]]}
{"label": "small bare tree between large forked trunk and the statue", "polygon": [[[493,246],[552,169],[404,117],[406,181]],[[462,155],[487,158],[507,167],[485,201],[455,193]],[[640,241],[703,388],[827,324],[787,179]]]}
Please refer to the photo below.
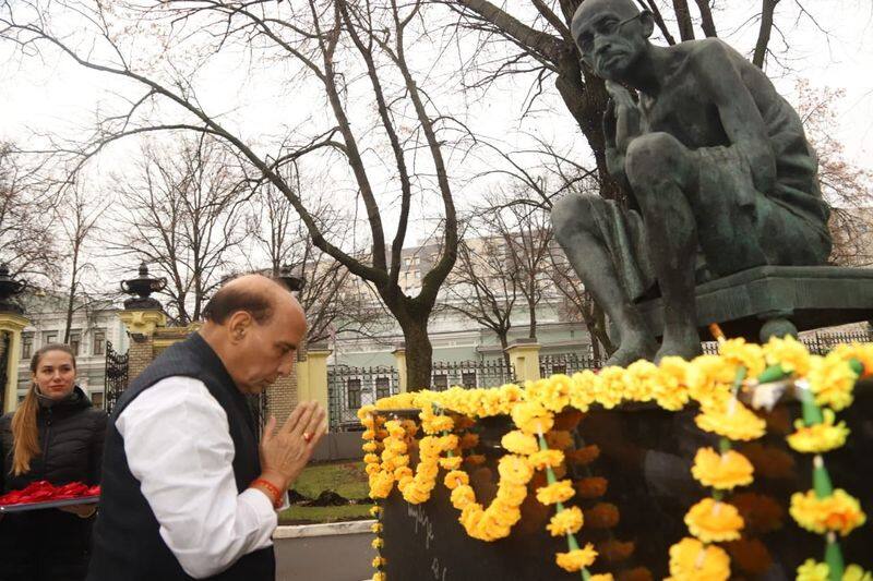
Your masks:
{"label": "small bare tree between large forked trunk and the statue", "polygon": [[518,270],[506,258],[503,239],[468,226],[458,244],[458,259],[446,281],[444,308],[491,329],[509,366],[509,334],[518,296]]}

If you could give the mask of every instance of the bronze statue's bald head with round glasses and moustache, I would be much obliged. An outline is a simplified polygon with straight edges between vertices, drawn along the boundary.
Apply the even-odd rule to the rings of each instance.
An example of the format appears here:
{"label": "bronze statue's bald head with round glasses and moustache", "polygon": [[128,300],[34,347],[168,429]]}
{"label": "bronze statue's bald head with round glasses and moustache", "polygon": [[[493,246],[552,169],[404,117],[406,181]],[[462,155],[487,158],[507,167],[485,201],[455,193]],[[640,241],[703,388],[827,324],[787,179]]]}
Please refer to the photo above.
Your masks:
{"label": "bronze statue's bald head with round glasses and moustache", "polygon": [[654,28],[648,11],[632,0],[585,0],[573,15],[573,38],[595,73],[621,81],[648,44]]}

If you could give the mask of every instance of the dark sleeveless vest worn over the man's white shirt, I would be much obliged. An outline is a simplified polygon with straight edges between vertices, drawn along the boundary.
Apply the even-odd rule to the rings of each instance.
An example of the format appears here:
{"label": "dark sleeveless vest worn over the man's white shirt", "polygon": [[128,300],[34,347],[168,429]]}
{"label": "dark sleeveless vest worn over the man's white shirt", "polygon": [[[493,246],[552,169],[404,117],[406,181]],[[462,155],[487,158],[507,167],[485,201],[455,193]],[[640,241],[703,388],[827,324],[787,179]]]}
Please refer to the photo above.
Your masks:
{"label": "dark sleeveless vest worn over the man's white shirt", "polygon": [[[131,474],[124,441],[116,421],[131,401],[167,377],[194,377],[227,413],[234,439],[234,475],[241,493],[261,473],[254,422],[246,402],[215,351],[194,332],[162,353],[124,390],[109,419],[103,461],[99,513],[94,526],[94,552],[88,581],[172,581],[192,579],[164,543],[140,482]],[[160,453],[156,450],[155,453]],[[244,555],[216,580],[273,581],[273,547]]]}

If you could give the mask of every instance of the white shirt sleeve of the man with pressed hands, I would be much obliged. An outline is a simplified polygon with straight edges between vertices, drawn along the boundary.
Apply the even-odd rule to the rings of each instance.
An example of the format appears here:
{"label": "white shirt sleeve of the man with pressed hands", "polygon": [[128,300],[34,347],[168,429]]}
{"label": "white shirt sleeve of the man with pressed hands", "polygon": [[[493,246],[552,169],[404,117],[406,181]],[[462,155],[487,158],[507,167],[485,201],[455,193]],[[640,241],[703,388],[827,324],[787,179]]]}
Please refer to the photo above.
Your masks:
{"label": "white shirt sleeve of the man with pressed hands", "polygon": [[276,512],[260,491],[237,493],[227,414],[202,382],[158,382],[116,427],[160,536],[188,574],[214,576],[272,545]]}

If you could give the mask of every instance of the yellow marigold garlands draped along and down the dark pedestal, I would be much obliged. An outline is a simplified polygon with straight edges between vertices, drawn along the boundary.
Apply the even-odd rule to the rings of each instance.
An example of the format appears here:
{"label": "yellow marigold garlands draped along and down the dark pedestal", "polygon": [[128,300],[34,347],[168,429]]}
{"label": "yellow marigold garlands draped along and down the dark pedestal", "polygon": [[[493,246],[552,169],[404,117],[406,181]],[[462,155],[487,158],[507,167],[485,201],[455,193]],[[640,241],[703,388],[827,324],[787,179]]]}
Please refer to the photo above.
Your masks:
{"label": "yellow marigold garlands draped along and down the dark pedestal", "polygon": [[[414,491],[408,493],[410,501],[424,501],[436,482],[439,468],[444,468],[449,471],[444,484],[452,489],[452,503],[462,511],[459,520],[468,533],[488,540],[502,537],[509,534],[512,524],[521,518],[517,506],[527,495],[528,474],[533,474],[534,470],[543,469],[551,473],[553,468],[562,468],[564,459],[575,463],[582,458],[579,453],[584,449],[573,450],[564,458],[561,450],[545,446],[542,434],[551,429],[554,422],[553,413],[567,408],[584,412],[591,403],[612,408],[624,401],[649,400],[655,400],[665,409],[678,410],[687,401],[694,400],[702,409],[702,413],[696,417],[697,425],[721,435],[722,449],[719,452],[711,448],[704,449],[695,458],[695,477],[704,485],[711,486],[716,493],[715,499],[698,503],[695,507],[697,510],[692,509],[686,520],[692,532],[701,534],[703,540],[736,537],[742,528],[742,517],[736,513],[736,509],[731,510],[730,505],[720,501],[720,494],[721,491],[751,483],[752,471],[749,469],[748,460],[730,449],[729,440],[755,439],[763,435],[765,429],[764,421],[737,401],[736,387],[734,394],[731,394],[731,385],[734,384],[739,371],[750,370],[751,375],[760,375],[761,382],[775,380],[786,375],[793,376],[808,387],[812,404],[830,408],[823,410],[823,413],[820,411],[817,421],[814,417],[813,420],[806,417],[804,411],[804,421],[797,422],[796,432],[788,436],[789,445],[796,450],[821,453],[841,446],[848,436],[845,423],[836,422],[834,411],[839,411],[851,403],[856,378],[859,373],[869,373],[873,365],[873,346],[839,346],[824,358],[810,355],[802,343],[792,338],[772,339],[763,347],[745,343],[742,340],[722,340],[720,346],[719,355],[702,355],[690,362],[679,358],[665,358],[657,366],[648,362],[637,362],[626,370],[607,367],[601,370],[600,374],[586,371],[573,376],[555,375],[549,379],[528,382],[524,388],[506,384],[495,389],[451,388],[442,392],[419,391],[384,398],[378,401],[374,408],[361,410],[364,413],[359,414],[367,428],[363,433],[367,440],[363,449],[367,452],[364,461],[370,476],[371,496],[374,498],[386,496],[394,482],[397,482],[398,487]],[[861,365],[859,362],[866,365]],[[757,380],[752,379],[749,385],[754,386],[756,383]],[[806,403],[804,410],[809,407]],[[512,415],[518,429],[511,435],[507,434],[503,445],[514,453],[507,455],[507,461],[501,462],[499,467],[501,479],[498,496],[492,506],[485,509],[475,501],[468,477],[465,479],[466,473],[458,470],[462,459],[452,453],[458,445],[454,436],[454,439],[445,439],[447,436],[444,435],[442,438],[419,445],[420,456],[426,464],[423,469],[421,462],[415,472],[406,465],[408,456],[400,443],[408,439],[409,434],[405,431],[404,434],[399,434],[397,425],[390,423],[382,429],[373,420],[375,410],[398,408],[418,408],[422,412],[450,409],[466,415],[467,422],[476,417]],[[432,411],[423,412],[421,422],[428,433],[445,434],[454,426],[451,417]],[[394,435],[391,432],[394,432]],[[538,443],[534,438],[535,435],[539,439]],[[468,436],[476,435],[465,435],[465,440]],[[553,444],[563,447],[561,444],[563,440],[555,439],[557,437],[558,435],[550,435]],[[422,441],[424,439],[422,438]],[[531,446],[531,440],[539,444],[539,449]],[[462,444],[463,449],[468,447],[469,445]],[[447,452],[449,458],[443,458],[441,456],[443,452]],[[586,457],[583,463],[590,459]],[[473,456],[467,460],[471,461]],[[816,464],[821,465],[822,471],[824,470],[818,457]],[[826,471],[824,473],[826,474]],[[570,493],[565,488],[566,485],[558,483],[551,474],[550,484],[537,492],[542,500],[552,501],[559,507],[559,513],[552,519],[554,524],[550,523],[550,526],[555,530],[572,531],[574,528],[572,513],[560,515],[565,510],[561,499],[572,496],[570,494],[572,487]],[[857,500],[842,491],[824,496],[816,493],[814,498],[810,493],[798,494],[794,497],[797,500],[792,500],[792,516],[799,521],[809,523],[810,528],[830,532],[832,536],[835,531],[848,534],[865,519]],[[726,511],[725,515],[721,513],[722,510]],[[823,522],[828,524],[823,525]],[[570,552],[559,554],[563,556],[559,565],[587,562],[589,559],[593,562],[595,557],[586,553],[588,547],[586,549],[574,547],[575,540],[571,543],[571,537],[572,532],[569,535]],[[697,555],[689,560],[686,557],[695,547],[698,547]],[[830,547],[829,543],[828,550]],[[593,548],[590,550],[594,552]],[[596,552],[594,554],[596,556]],[[571,555],[573,557],[570,557]],[[681,573],[677,571],[682,570],[689,562],[694,566],[697,579],[722,579],[730,569],[729,558],[723,550],[706,546],[697,540],[686,538],[671,548],[671,574],[674,578],[680,577]],[[848,569],[846,571],[848,572]],[[722,573],[725,577],[720,577]],[[595,579],[603,576],[587,577]]]}

